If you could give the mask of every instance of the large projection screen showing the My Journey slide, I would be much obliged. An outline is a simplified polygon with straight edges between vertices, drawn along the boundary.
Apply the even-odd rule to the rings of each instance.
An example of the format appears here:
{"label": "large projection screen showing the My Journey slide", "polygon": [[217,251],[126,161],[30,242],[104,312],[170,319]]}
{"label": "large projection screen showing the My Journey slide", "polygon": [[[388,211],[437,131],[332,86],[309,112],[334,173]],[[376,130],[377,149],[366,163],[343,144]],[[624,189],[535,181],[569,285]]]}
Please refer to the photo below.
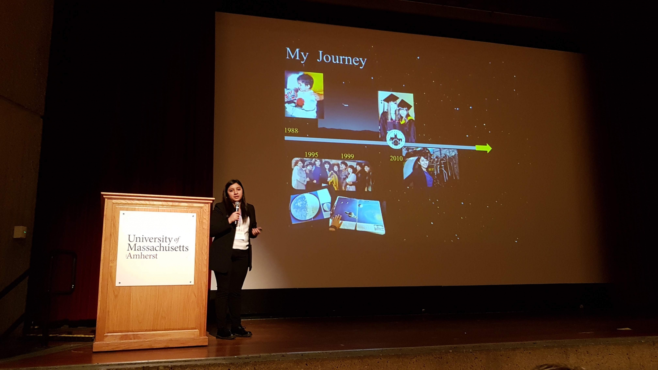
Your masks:
{"label": "large projection screen showing the My Journey slide", "polygon": [[582,55],[215,24],[213,196],[240,179],[264,230],[245,287],[601,281]]}

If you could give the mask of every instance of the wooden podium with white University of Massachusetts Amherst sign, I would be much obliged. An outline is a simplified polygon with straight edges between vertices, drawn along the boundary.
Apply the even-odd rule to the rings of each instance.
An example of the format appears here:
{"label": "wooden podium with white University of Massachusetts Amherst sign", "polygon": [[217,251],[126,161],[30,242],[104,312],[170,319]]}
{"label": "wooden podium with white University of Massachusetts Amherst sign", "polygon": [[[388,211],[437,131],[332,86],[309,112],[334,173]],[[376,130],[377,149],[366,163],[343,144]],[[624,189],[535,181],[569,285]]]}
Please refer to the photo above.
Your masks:
{"label": "wooden podium with white University of Massachusetts Amherst sign", "polygon": [[[207,346],[215,198],[101,194],[103,241],[93,351]],[[182,233],[187,234],[177,240]],[[181,279],[186,281],[179,284]]]}

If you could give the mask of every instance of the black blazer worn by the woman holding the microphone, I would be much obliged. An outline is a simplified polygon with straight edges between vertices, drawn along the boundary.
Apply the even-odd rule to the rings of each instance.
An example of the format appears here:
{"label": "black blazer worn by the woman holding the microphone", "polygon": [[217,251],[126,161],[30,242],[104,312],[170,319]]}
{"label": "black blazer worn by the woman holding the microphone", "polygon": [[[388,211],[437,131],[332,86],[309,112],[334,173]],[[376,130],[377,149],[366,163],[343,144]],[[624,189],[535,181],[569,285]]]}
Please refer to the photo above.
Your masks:
{"label": "black blazer worn by the woman holding the microphone", "polygon": [[[236,223],[228,223],[228,217],[235,209],[226,211],[223,202],[215,204],[215,209],[210,215],[210,236],[214,237],[210,247],[209,265],[210,269],[219,273],[228,273],[231,266],[231,253],[233,240],[236,237]],[[256,210],[253,205],[247,203],[247,215],[249,216],[249,271],[251,271],[251,229],[256,228]]]}

